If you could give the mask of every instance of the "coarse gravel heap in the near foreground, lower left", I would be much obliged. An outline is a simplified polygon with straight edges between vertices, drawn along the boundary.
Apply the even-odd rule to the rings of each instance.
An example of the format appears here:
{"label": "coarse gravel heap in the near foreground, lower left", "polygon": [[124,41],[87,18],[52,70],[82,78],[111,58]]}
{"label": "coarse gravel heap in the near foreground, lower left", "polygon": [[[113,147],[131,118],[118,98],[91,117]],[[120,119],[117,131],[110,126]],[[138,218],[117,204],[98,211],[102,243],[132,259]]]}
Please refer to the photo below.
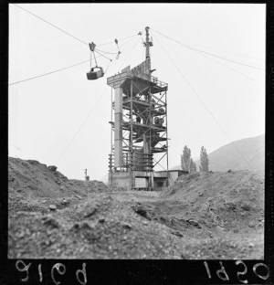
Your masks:
{"label": "coarse gravel heap in the near foreground, lower left", "polygon": [[167,227],[149,222],[107,194],[44,215],[37,210],[13,212],[8,241],[9,258],[16,259],[182,258]]}

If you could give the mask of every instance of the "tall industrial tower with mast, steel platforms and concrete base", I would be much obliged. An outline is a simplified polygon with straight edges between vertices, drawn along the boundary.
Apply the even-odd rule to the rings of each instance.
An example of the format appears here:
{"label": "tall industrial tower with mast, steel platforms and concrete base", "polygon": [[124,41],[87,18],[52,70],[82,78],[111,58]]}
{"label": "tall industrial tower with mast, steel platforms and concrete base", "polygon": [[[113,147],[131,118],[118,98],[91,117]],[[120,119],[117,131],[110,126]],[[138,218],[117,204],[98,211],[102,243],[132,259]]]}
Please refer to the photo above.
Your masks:
{"label": "tall industrial tower with mast, steel platforms and concrete base", "polygon": [[[169,184],[167,83],[152,76],[150,47],[153,41],[148,26],[145,31],[145,60],[107,79],[111,86],[109,184],[153,190]],[[154,153],[161,154],[158,161]],[[163,157],[166,171],[153,171]]]}

